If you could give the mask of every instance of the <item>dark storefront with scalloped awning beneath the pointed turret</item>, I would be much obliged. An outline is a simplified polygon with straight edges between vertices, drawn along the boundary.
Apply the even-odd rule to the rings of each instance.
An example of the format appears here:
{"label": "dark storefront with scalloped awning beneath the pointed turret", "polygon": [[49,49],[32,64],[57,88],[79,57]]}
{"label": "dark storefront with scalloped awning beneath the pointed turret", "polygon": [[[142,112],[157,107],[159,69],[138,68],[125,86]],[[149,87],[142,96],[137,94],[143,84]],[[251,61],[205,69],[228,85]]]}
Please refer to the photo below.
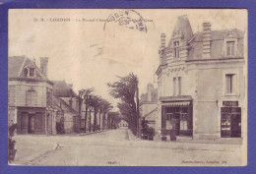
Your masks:
{"label": "dark storefront with scalloped awning beneath the pointed turret", "polygon": [[193,103],[190,95],[160,97],[161,132],[193,136]]}

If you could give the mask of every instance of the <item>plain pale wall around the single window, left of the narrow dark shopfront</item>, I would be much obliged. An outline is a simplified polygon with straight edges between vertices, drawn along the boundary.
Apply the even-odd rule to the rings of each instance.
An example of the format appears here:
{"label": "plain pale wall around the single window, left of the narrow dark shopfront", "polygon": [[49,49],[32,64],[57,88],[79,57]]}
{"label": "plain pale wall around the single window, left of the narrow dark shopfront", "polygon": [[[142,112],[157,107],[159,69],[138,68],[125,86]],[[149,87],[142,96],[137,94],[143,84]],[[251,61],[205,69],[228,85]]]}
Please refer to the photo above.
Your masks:
{"label": "plain pale wall around the single window, left of the narrow dark shopfront", "polygon": [[[239,106],[244,103],[243,62],[232,60],[211,62],[210,64],[201,62],[190,66],[197,70],[197,92],[193,98],[194,139],[221,138],[223,101],[238,100]],[[238,76],[238,93],[236,95],[224,94],[225,72],[234,73]]]}

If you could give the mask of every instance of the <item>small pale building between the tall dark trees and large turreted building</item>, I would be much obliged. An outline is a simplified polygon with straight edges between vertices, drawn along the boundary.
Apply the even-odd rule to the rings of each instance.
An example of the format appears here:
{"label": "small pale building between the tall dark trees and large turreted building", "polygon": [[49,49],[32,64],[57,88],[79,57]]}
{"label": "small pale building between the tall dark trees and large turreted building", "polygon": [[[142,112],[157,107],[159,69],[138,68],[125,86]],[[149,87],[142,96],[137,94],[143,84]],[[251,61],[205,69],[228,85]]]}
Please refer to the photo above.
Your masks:
{"label": "small pale building between the tall dark trees and large turreted building", "polygon": [[147,93],[141,95],[140,102],[141,119],[148,121],[148,125],[156,129],[156,118],[158,117],[158,88],[148,84]]}

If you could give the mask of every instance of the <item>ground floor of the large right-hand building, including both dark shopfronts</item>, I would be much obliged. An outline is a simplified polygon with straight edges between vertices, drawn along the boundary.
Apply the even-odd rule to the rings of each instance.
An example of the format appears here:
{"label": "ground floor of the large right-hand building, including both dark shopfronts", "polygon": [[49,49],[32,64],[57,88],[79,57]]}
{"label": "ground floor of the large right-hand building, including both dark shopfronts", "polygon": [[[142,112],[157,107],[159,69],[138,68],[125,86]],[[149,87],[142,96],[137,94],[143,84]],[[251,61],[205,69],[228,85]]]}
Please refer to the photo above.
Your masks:
{"label": "ground floor of the large right-hand building, including both dark shopfronts", "polygon": [[192,139],[242,138],[242,106],[238,100],[197,101],[190,96],[160,98],[161,134]]}

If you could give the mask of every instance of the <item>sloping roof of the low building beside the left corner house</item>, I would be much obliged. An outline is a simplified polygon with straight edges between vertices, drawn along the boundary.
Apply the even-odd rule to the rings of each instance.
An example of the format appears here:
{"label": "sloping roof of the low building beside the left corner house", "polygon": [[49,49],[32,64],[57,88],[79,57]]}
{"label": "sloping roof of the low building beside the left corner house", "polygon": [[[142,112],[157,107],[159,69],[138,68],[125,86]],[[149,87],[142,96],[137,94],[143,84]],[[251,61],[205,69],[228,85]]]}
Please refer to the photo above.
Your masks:
{"label": "sloping roof of the low building beside the left corner house", "polygon": [[77,94],[74,92],[72,87],[65,81],[52,81],[53,82],[53,94],[59,97],[76,97]]}

